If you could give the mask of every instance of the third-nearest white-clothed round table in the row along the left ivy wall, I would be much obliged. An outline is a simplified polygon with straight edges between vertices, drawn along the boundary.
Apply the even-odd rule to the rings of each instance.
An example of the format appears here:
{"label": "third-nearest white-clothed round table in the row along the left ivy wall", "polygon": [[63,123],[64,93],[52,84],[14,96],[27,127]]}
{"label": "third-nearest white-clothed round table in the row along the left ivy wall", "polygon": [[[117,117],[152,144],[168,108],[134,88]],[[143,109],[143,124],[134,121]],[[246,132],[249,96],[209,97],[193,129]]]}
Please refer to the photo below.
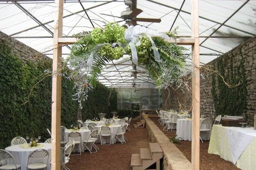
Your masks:
{"label": "third-nearest white-clothed round table in the row along the left ivy wall", "polygon": [[[99,126],[95,126],[95,128],[99,129],[101,128],[102,126],[99,125]],[[116,137],[116,132],[119,132],[119,130],[121,130],[121,125],[109,125],[108,127],[110,127],[110,133],[111,133],[111,144],[114,144],[116,141],[115,141],[115,137]],[[101,135],[99,136],[100,139],[102,140],[102,144],[105,144],[109,141],[109,137],[102,137]],[[125,142],[125,139],[124,139],[124,136],[118,136],[118,138],[122,141],[122,142]]]}

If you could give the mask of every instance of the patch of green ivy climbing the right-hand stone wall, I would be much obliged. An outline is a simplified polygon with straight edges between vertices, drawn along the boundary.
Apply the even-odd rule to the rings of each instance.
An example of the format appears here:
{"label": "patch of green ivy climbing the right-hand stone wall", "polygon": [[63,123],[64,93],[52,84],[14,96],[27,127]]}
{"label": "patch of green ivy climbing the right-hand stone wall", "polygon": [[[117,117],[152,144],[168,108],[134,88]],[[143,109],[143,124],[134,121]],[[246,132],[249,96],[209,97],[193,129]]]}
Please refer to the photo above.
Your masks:
{"label": "patch of green ivy climbing the right-hand stone wall", "polygon": [[[240,49],[240,55],[241,49]],[[212,97],[216,115],[221,114],[230,116],[241,116],[246,112],[247,98],[247,80],[245,77],[244,58],[241,58],[237,68],[233,67],[232,57],[218,58],[217,69],[221,76],[229,85],[238,85],[237,87],[229,87],[225,84],[222,77],[212,75]]]}

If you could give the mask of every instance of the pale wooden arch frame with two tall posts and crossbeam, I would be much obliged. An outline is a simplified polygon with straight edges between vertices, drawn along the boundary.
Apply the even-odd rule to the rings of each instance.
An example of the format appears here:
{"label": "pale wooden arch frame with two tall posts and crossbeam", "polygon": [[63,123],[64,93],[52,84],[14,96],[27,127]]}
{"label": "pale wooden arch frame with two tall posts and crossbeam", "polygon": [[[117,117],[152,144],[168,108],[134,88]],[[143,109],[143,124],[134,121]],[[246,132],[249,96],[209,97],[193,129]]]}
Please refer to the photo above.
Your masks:
{"label": "pale wooden arch frame with two tall posts and crossbeam", "polygon": [[[61,71],[61,45],[73,44],[74,38],[62,38],[64,0],[55,0],[55,25],[53,34],[53,73]],[[191,0],[192,38],[177,39],[179,45],[192,45],[192,170],[199,170],[200,147],[200,63],[198,0]],[[174,42],[173,40],[169,40]],[[52,151],[51,170],[61,169],[61,74],[52,76]]]}

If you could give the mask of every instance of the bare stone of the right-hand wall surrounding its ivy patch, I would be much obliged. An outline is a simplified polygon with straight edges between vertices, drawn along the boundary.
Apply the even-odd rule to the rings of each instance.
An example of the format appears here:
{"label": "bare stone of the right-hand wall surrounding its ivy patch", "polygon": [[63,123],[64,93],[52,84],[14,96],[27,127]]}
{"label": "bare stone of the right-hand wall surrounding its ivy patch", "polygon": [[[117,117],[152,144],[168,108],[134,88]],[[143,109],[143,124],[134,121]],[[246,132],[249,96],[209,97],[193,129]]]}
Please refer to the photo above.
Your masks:
{"label": "bare stone of the right-hand wall surrounding its ivy patch", "polygon": [[[253,125],[253,117],[256,114],[256,37],[253,37],[246,42],[241,43],[237,47],[207,63],[207,65],[217,66],[217,61],[227,59],[230,61],[232,57],[233,65],[225,68],[225,74],[230,71],[230,68],[236,69],[241,63],[241,58],[244,59],[245,78],[247,80],[247,114],[248,122]],[[200,82],[200,112],[206,116],[215,118],[215,108],[212,98],[212,71],[202,67],[201,74],[205,79],[201,78]],[[189,76],[189,75],[188,75]],[[189,80],[190,81],[190,80]],[[169,98],[168,98],[169,96]],[[186,89],[173,90],[169,88],[163,92],[163,108],[177,109],[182,106],[183,108],[190,109],[191,107],[191,94]],[[179,105],[180,103],[180,105]]]}

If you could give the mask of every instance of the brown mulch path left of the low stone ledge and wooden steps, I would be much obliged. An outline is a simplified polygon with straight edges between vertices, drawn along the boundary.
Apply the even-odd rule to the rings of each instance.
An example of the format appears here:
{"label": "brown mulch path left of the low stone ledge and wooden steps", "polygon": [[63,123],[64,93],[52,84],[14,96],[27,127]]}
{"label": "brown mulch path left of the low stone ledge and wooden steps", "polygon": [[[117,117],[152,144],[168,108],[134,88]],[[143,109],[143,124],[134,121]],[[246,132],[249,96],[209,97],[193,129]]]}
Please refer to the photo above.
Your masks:
{"label": "brown mulch path left of the low stone ledge and wooden steps", "polygon": [[96,144],[99,151],[90,154],[70,156],[67,167],[70,170],[131,170],[131,154],[140,153],[140,148],[149,148],[149,136],[145,128],[134,128],[131,121],[130,129],[125,133],[128,142],[111,145]]}

